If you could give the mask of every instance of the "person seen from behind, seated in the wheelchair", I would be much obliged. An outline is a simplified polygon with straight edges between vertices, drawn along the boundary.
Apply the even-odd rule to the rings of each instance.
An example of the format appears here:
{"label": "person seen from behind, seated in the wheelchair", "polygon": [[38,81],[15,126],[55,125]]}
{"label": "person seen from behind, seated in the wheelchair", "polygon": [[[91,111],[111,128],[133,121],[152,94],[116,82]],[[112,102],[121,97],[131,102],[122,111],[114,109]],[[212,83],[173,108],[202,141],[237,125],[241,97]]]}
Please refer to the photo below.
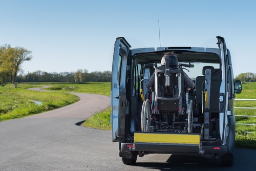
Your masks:
{"label": "person seen from behind, seated in the wheelchair", "polygon": [[[178,69],[178,59],[175,56],[175,54],[173,52],[167,52],[164,54],[164,56],[161,59],[161,66],[158,67],[158,69],[165,69],[165,59],[169,58],[169,67],[170,69]],[[184,86],[188,87],[188,90],[194,89],[195,87],[195,83],[194,81],[189,78],[189,76],[184,72]],[[151,87],[154,87],[155,84],[155,73],[152,74],[152,76],[150,77],[150,79],[145,83],[145,86],[148,90],[150,90]]]}

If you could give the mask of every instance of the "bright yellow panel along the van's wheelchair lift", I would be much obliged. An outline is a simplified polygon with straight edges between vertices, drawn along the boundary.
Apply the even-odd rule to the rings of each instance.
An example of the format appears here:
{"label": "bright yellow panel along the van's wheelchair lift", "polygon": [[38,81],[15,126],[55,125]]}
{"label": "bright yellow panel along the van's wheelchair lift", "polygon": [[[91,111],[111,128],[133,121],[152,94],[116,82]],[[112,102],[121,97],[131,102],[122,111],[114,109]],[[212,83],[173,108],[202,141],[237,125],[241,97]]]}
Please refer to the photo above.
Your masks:
{"label": "bright yellow panel along the van's wheelchair lift", "polygon": [[134,142],[200,144],[200,135],[135,133]]}

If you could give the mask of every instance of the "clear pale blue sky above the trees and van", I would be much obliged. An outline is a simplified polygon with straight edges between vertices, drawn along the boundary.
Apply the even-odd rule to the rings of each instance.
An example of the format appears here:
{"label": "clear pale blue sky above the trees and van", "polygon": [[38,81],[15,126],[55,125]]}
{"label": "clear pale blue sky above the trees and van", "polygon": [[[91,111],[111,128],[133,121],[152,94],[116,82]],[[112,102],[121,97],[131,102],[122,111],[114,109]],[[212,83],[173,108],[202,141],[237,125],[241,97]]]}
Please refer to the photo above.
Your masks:
{"label": "clear pale blue sky above the trees and van", "polygon": [[111,71],[116,37],[132,48],[191,46],[231,51],[234,76],[256,73],[256,1],[0,0],[0,46],[23,47],[34,71]]}

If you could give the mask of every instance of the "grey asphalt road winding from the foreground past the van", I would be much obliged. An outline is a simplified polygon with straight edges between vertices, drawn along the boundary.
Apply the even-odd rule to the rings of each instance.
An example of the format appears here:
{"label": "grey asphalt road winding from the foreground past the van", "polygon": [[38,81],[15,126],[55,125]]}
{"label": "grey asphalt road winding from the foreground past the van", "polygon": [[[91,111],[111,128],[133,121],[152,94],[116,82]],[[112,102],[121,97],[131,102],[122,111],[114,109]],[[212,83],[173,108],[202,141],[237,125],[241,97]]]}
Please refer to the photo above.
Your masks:
{"label": "grey asphalt road winding from the foreground past the van", "polygon": [[124,165],[111,131],[79,126],[110,106],[110,98],[74,93],[64,108],[0,122],[0,170],[255,170],[256,151],[237,148],[234,166],[201,156],[146,155]]}

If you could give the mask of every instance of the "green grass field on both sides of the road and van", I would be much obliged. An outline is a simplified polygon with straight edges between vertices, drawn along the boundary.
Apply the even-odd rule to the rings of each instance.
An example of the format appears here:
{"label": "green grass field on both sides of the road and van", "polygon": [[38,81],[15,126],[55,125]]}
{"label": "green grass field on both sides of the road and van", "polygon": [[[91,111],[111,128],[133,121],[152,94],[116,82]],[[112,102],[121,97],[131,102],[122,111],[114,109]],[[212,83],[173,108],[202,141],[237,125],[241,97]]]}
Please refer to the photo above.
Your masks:
{"label": "green grass field on both sides of the road and van", "polygon": [[[49,92],[34,92],[27,90],[40,85],[52,86]],[[25,117],[41,112],[60,108],[79,100],[74,95],[67,92],[92,93],[110,96],[110,82],[89,82],[89,83],[29,83],[18,84],[13,88],[13,84],[0,87],[0,121]],[[256,97],[256,82],[243,83],[241,94],[237,94],[237,99],[254,99]],[[58,99],[58,100],[56,100]],[[60,99],[60,100],[59,100]],[[33,100],[42,102],[37,105]],[[236,107],[256,107],[256,101],[235,101]],[[236,115],[256,116],[256,109],[235,109]],[[95,129],[111,130],[110,124],[111,108],[93,115],[87,119],[83,125]],[[253,117],[236,117],[237,123],[256,123]],[[236,147],[256,149],[256,126],[237,125],[236,126]]]}

